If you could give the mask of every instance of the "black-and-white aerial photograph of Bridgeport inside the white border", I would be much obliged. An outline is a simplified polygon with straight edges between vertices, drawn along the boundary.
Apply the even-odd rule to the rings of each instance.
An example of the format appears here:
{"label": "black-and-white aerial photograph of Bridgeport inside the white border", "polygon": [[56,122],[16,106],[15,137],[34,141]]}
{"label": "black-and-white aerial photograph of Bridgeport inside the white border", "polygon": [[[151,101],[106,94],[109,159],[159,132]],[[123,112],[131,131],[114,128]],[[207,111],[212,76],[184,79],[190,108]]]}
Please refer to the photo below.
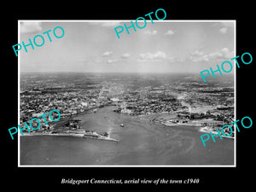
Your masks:
{"label": "black-and-white aerial photograph of Bridgeport inside the white border", "polygon": [[147,21],[19,20],[19,166],[236,165],[235,21]]}

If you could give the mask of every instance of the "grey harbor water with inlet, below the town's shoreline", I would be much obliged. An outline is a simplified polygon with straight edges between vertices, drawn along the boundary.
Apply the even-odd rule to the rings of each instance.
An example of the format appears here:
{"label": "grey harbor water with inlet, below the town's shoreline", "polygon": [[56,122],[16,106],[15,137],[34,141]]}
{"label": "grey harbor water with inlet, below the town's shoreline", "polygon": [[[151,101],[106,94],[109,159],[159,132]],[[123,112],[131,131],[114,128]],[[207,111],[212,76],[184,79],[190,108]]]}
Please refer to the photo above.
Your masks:
{"label": "grey harbor water with inlet, below the town's shoreline", "polygon": [[[198,126],[166,126],[114,107],[77,116],[84,130],[107,131],[119,143],[79,137],[20,137],[20,165],[234,165],[234,140],[201,143]],[[121,127],[120,124],[124,124]]]}

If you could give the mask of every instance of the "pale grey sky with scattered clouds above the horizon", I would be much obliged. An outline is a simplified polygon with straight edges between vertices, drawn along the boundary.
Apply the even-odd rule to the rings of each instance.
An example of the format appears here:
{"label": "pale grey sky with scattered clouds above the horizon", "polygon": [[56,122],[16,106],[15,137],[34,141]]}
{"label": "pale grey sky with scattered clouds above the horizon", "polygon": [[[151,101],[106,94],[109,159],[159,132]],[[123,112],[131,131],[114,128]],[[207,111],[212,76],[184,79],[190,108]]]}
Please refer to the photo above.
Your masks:
{"label": "pale grey sky with scattered clouds above the horizon", "polygon": [[49,32],[52,42],[44,34],[44,45],[27,53],[22,48],[20,72],[200,73],[235,56],[234,21],[147,20],[118,38],[114,27],[124,23],[131,26],[130,20],[20,21],[20,44],[56,26],[65,31],[62,38]]}

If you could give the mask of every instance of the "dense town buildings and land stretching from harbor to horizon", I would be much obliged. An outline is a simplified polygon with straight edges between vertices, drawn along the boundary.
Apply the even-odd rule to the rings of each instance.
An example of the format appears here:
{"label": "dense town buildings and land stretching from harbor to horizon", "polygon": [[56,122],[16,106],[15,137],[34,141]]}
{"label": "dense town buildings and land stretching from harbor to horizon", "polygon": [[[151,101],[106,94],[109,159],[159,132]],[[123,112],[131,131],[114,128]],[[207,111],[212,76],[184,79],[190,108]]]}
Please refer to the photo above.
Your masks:
{"label": "dense town buildings and land stretching from harbor to horizon", "polygon": [[[234,120],[230,79],[206,84],[192,75],[25,73],[20,78],[20,125],[52,109],[61,119],[72,119],[112,105],[116,113],[152,115],[153,121],[166,125],[192,123],[216,131]],[[41,131],[52,129],[51,123],[40,120]],[[75,122],[66,126],[77,127]]]}

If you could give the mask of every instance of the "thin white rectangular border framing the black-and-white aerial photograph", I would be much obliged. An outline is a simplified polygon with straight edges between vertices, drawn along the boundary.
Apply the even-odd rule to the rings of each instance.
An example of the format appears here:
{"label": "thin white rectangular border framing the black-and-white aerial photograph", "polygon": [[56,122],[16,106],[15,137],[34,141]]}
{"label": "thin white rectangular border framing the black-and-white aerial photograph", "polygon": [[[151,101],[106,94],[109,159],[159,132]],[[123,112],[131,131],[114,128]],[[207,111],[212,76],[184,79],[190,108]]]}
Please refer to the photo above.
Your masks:
{"label": "thin white rectangular border framing the black-and-white aerial photograph", "polygon": [[[20,44],[20,22],[131,22],[131,20],[18,20],[18,44]],[[132,20],[135,21],[135,20]],[[142,20],[138,20],[139,22]],[[150,21],[150,20],[147,20]],[[154,20],[154,22],[234,22],[234,53],[236,56],[236,20]],[[236,63],[234,61],[234,66]],[[236,67],[234,71],[234,91],[235,91],[235,108],[234,108],[234,116],[236,120]],[[20,52],[18,52],[18,125],[20,125]],[[236,129],[235,129],[236,130]],[[234,165],[132,165],[132,166],[125,166],[125,165],[118,165],[118,166],[89,166],[89,165],[81,165],[81,166],[59,166],[59,165],[20,165],[20,131],[18,131],[18,167],[236,167],[236,131],[235,131],[235,138],[234,138]]]}

